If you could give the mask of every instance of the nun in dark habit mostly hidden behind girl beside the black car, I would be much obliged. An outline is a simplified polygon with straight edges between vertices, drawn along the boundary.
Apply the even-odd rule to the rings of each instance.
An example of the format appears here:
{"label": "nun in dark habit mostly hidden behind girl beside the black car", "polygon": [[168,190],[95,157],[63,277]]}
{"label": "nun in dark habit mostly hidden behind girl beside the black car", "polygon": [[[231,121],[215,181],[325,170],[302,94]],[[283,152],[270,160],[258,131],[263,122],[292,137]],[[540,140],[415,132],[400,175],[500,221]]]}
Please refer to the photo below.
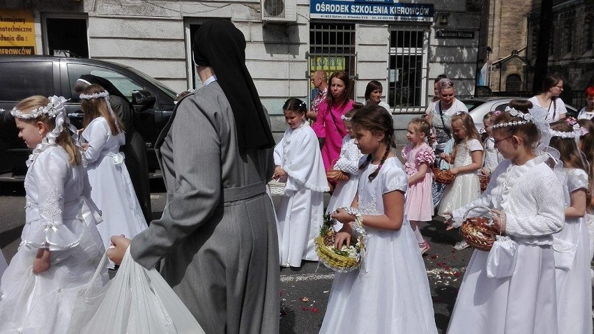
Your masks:
{"label": "nun in dark habit mostly hidden behind girl beside the black car", "polygon": [[119,89],[108,79],[96,75],[81,75],[75,83],[77,94],[91,85],[98,84],[109,93],[109,104],[115,114],[121,119],[125,128],[125,144],[120,151],[125,155],[125,167],[130,174],[134,192],[138,198],[142,215],[147,223],[153,219],[151,211],[151,187],[148,180],[148,164],[146,162],[146,146],[141,135],[136,131],[134,121],[134,107]]}

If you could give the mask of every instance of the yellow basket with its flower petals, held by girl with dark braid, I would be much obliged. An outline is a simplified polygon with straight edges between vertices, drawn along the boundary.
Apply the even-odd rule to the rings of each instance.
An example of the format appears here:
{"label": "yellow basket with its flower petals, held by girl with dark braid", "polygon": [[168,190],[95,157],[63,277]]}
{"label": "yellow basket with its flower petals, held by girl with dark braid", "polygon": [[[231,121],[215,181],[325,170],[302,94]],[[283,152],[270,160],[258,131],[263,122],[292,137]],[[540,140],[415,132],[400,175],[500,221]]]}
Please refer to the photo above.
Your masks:
{"label": "yellow basket with its flower petals, held by girl with dark braid", "polygon": [[[330,215],[324,215],[320,234],[314,238],[315,250],[319,261],[324,266],[333,271],[347,273],[359,268],[361,261],[363,261],[361,252],[364,247],[365,233],[359,233],[356,237],[356,243],[351,241],[351,245],[342,245],[339,250],[334,245],[336,235],[333,229],[334,222],[335,220],[330,218]],[[363,231],[363,229],[357,229],[357,231]]]}

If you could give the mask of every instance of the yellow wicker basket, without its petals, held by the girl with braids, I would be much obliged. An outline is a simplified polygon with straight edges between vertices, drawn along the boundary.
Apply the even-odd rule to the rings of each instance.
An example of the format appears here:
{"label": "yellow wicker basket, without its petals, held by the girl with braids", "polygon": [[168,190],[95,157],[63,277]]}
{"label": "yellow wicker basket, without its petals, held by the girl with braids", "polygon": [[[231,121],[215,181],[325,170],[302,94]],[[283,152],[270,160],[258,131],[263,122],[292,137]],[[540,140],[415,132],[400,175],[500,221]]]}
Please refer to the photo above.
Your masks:
{"label": "yellow wicker basket, without its petals, held by the girl with braids", "polygon": [[[335,231],[332,228],[330,216],[324,215],[324,225],[320,229],[320,235],[314,238],[315,250],[319,261],[324,266],[340,273],[347,273],[359,268],[362,258],[360,256],[354,258],[348,255],[338,254],[340,251],[334,247],[334,236]],[[360,247],[363,248],[363,236],[358,236],[358,242],[360,243]]]}

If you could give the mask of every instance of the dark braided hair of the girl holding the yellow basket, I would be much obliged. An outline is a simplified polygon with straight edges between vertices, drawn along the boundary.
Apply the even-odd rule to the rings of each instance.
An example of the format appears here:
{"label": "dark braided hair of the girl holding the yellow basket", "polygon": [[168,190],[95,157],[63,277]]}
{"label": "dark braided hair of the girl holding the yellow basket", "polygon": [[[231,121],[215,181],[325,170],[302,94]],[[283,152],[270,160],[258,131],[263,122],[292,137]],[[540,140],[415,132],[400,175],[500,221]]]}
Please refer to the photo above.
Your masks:
{"label": "dark braided hair of the girl holding the yellow basket", "polygon": [[[358,126],[371,132],[383,132],[384,134],[383,142],[387,145],[386,152],[383,153],[383,157],[381,157],[381,161],[374,172],[370,176],[367,176],[371,182],[379,173],[383,162],[386,162],[388,154],[390,154],[390,146],[396,147],[394,144],[394,121],[392,115],[385,108],[379,105],[367,105],[353,115],[351,122],[353,126]],[[359,169],[367,167],[371,163],[372,158],[372,155],[368,154],[363,164],[359,166]]]}

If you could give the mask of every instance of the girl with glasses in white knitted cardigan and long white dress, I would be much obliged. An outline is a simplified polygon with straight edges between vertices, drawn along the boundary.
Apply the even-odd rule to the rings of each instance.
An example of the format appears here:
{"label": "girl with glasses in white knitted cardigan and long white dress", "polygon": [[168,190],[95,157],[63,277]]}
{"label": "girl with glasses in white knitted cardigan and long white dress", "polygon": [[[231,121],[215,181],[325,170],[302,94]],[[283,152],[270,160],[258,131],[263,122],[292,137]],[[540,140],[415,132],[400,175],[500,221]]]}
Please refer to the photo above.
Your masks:
{"label": "girl with glasses in white knitted cardigan and long white dress", "polygon": [[[452,215],[487,206],[495,227],[509,239],[490,252],[475,250],[466,267],[448,333],[557,333],[553,234],[563,227],[563,187],[536,145],[548,134],[546,109],[512,100],[494,119],[493,137],[506,160],[487,190]],[[538,126],[538,127],[537,127]],[[542,129],[542,131],[540,130]],[[548,145],[548,139],[541,139]],[[450,215],[450,213],[445,213]],[[469,216],[485,215],[474,209]],[[500,252],[501,251],[501,252]]]}

